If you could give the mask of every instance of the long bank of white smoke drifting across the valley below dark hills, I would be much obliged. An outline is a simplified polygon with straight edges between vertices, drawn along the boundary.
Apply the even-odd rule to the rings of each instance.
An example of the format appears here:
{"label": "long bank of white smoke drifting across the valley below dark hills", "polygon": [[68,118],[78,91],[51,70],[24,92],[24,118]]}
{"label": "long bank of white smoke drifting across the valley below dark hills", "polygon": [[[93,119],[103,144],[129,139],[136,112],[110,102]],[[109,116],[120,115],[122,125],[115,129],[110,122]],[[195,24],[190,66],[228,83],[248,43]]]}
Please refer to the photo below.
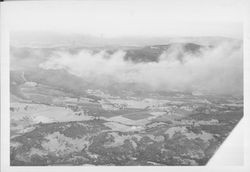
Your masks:
{"label": "long bank of white smoke drifting across the valley below dark hills", "polygon": [[82,50],[78,54],[57,52],[40,64],[43,69],[66,69],[85,79],[112,78],[120,83],[139,83],[159,90],[207,90],[217,93],[240,93],[243,90],[243,51],[238,41],[224,42],[200,55],[185,54],[178,60],[172,48],[159,57],[159,62],[133,63],[125,61],[126,52],[93,53]]}

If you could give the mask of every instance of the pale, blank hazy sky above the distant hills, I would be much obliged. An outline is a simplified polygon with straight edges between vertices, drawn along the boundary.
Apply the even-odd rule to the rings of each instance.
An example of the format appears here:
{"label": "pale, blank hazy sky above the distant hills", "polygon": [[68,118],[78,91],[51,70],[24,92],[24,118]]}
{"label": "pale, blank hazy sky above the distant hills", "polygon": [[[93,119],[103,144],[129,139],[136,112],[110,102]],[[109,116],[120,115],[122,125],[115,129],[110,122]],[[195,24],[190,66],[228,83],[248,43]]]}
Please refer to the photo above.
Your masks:
{"label": "pale, blank hazy sky above the distant hills", "polygon": [[242,36],[242,0],[7,2],[11,30],[121,36]]}

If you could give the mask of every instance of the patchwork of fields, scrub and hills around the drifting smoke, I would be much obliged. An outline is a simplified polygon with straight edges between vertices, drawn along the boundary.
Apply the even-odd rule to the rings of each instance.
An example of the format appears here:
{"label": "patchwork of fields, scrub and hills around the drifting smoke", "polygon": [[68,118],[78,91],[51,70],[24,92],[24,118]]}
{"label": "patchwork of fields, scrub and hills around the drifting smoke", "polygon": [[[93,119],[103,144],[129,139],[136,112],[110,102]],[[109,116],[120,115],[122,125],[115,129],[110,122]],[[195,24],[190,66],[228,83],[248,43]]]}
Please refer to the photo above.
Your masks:
{"label": "patchwork of fields, scrub and hills around the drifting smoke", "polygon": [[170,57],[173,47],[180,64],[214,48],[11,47],[11,165],[205,165],[242,118],[241,94],[158,89],[108,75],[83,78],[47,62],[58,51],[105,51],[105,59],[119,49],[126,63],[153,64],[163,53]]}

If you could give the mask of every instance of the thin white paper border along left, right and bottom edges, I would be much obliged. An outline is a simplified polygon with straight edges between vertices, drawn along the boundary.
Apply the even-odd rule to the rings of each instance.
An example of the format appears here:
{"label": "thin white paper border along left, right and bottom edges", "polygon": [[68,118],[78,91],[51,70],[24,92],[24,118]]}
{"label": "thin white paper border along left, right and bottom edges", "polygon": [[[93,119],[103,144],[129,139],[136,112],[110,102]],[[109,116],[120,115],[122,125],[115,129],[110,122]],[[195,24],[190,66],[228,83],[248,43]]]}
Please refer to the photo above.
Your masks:
{"label": "thin white paper border along left, right and bottom edges", "polygon": [[[246,162],[250,162],[250,137],[249,133],[249,112],[250,112],[250,102],[249,102],[249,93],[250,93],[250,27],[249,27],[249,2],[245,1],[246,5],[246,16],[244,21],[244,117],[241,121],[241,131],[244,133],[244,160],[245,163],[242,166],[201,166],[201,167],[10,167],[10,159],[9,159],[9,28],[8,28],[8,16],[5,16],[5,8],[4,4],[8,2],[4,2],[1,4],[1,171],[3,172],[29,172],[29,171],[44,171],[47,172],[55,172],[55,171],[99,171],[99,170],[108,170],[108,171],[127,171],[127,170],[143,170],[151,172],[152,170],[158,171],[250,171],[250,164]],[[15,2],[17,3],[17,2]],[[247,13],[248,12],[248,13]],[[248,47],[248,48],[247,48]],[[242,131],[242,129],[244,131]],[[235,130],[238,130],[236,127]],[[239,132],[239,131],[238,131]],[[228,155],[234,156],[234,155]]]}

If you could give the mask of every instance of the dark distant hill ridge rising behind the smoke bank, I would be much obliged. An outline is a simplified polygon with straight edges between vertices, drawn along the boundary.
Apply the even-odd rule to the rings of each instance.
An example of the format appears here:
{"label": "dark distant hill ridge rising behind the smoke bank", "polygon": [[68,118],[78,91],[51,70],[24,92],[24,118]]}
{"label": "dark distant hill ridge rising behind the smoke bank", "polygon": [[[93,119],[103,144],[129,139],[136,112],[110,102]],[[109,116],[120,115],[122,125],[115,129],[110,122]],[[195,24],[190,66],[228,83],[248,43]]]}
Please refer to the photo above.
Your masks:
{"label": "dark distant hill ridge rising behind the smoke bank", "polygon": [[[195,43],[171,43],[166,45],[151,45],[151,46],[105,46],[105,47],[84,47],[84,46],[60,46],[60,47],[10,47],[11,57],[18,61],[17,67],[22,65],[25,68],[37,67],[38,64],[48,59],[53,55],[54,52],[64,51],[69,52],[72,55],[79,53],[82,50],[90,50],[95,53],[106,51],[109,55],[113,54],[118,50],[124,51],[126,54],[124,60],[132,61],[135,63],[139,62],[158,62],[159,57],[162,53],[173,51],[178,48],[179,58],[182,60],[185,53],[198,55],[202,49],[211,48],[212,46],[204,46]],[[12,66],[15,66],[15,62]]]}

